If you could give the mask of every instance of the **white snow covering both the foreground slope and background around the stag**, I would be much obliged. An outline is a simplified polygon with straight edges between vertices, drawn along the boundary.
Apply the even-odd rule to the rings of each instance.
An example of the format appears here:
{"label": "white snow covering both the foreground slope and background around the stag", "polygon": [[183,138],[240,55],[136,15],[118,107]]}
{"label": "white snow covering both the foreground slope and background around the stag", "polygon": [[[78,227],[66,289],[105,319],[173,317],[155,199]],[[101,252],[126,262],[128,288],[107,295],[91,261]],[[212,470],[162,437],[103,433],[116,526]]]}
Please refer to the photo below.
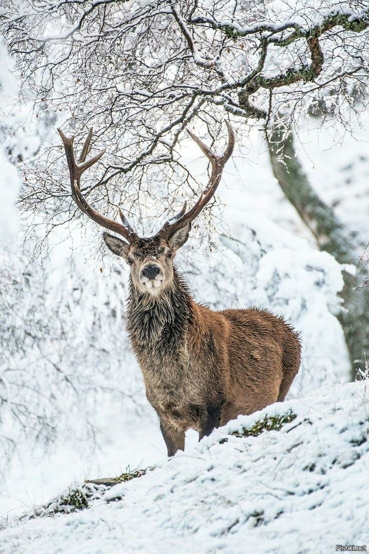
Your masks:
{"label": "white snow covering both the foreground slope and background around the stag", "polygon": [[[227,3],[230,9],[231,4]],[[319,4],[306,3],[311,13]],[[150,7],[150,2],[144,0],[139,6]],[[269,3],[267,8],[269,13],[287,10],[284,2]],[[291,14],[294,8],[291,3]],[[129,10],[131,4],[121,9]],[[155,30],[157,39],[164,37],[164,30]],[[134,45],[134,33],[124,49],[130,48],[131,39]],[[360,45],[360,40],[352,43]],[[164,56],[163,45],[164,39],[159,58]],[[239,55],[232,48],[223,54],[227,71]],[[196,60],[208,60],[210,47],[209,53],[196,50]],[[251,53],[242,56],[235,74],[245,73],[249,56],[252,61]],[[18,90],[3,50],[0,58],[5,107]],[[145,61],[155,66],[157,59],[155,54]],[[278,56],[268,63],[269,69],[279,70]],[[336,69],[333,64],[332,73]],[[173,71],[170,67],[165,76],[170,83]],[[37,79],[36,75],[36,85]],[[206,79],[204,83],[214,85]],[[84,105],[82,85],[74,86]],[[136,90],[138,104],[143,102],[147,110],[150,95],[124,86],[126,94]],[[186,86],[192,90],[194,84]],[[66,90],[67,83],[56,79],[56,91],[58,87]],[[119,81],[117,90],[123,92],[122,87]],[[165,90],[163,84],[161,89]],[[170,122],[169,94],[175,98],[176,93],[171,85],[168,90],[168,105],[163,104],[167,111],[158,117],[155,129]],[[89,91],[86,111],[91,107],[90,96]],[[344,268],[316,249],[313,237],[283,197],[258,129],[247,127],[246,136],[245,126],[239,125],[235,153],[227,163],[217,202],[211,206],[211,223],[207,227],[208,219],[196,221],[176,265],[195,299],[213,309],[257,305],[284,315],[302,334],[302,367],[288,402],[239,418],[200,444],[197,434],[189,432],[185,452],[168,462],[157,416],[145,399],[125,331],[127,267],[101,246],[100,230],[87,218],[74,218],[49,232],[46,212],[54,213],[61,223],[52,201],[46,202],[46,208],[40,203],[39,211],[25,209],[22,218],[14,207],[20,178],[8,160],[25,177],[35,165],[41,177],[46,175],[49,166],[45,161],[38,166],[37,155],[57,144],[56,124],[61,126],[65,117],[59,108],[56,115],[53,109],[45,109],[38,120],[28,100],[3,116],[0,151],[0,521],[7,524],[0,532],[1,554],[174,549],[199,554],[298,554],[334,551],[337,542],[369,543],[368,383],[342,384],[350,367],[336,319]],[[101,95],[101,105],[106,101]],[[123,113],[122,105],[118,109]],[[369,117],[363,114],[360,122],[350,121],[354,136],[344,134],[345,125],[329,126],[326,119],[324,130],[316,129],[311,118],[310,125],[302,124],[299,158],[310,182],[358,234],[364,248],[369,237]],[[137,129],[139,134],[141,127]],[[204,129],[194,131],[203,137]],[[124,140],[131,141],[134,150],[141,148],[139,153],[147,151],[147,142],[137,146],[135,132],[122,131]],[[109,133],[106,129],[101,140],[107,136],[112,142],[115,135]],[[170,145],[170,139],[165,135],[162,145]],[[124,146],[124,140],[119,146]],[[221,152],[222,144],[214,148]],[[48,151],[51,158],[54,150]],[[124,153],[114,163],[128,167],[131,154]],[[204,157],[196,145],[184,139],[181,155],[184,166],[191,167],[199,182],[206,182]],[[61,166],[55,167],[63,186],[65,167],[62,173]],[[133,216],[152,231],[161,217],[157,198],[163,203],[160,209],[168,208],[168,191],[162,174],[148,172],[142,183],[141,209]],[[53,193],[51,189],[51,198]],[[122,204],[126,213],[123,195],[118,196],[117,205]],[[170,203],[179,209],[183,200],[177,195]],[[60,202],[58,209],[67,211],[67,201]],[[188,201],[192,207],[194,191]],[[129,207],[131,214],[134,204]],[[175,216],[170,219],[174,220]],[[278,432],[247,438],[230,434],[267,414],[276,416],[289,409],[297,418]],[[24,511],[32,514],[32,506],[48,503],[71,483],[147,466],[155,469],[97,495],[88,510],[22,522],[13,519]]]}

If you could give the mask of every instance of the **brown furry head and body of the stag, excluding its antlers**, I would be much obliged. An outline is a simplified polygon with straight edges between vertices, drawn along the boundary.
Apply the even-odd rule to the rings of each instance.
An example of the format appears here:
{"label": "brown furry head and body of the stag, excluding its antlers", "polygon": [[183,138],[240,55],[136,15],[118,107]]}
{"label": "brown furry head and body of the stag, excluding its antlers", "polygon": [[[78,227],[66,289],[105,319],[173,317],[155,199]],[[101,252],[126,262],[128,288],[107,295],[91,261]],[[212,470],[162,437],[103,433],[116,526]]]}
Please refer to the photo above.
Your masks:
{"label": "brown furry head and body of the stag, excluding its antlers", "polygon": [[[174,244],[184,236],[179,243],[140,240],[121,254],[134,260],[127,328],[170,456],[184,449],[189,428],[202,438],[240,414],[283,401],[299,370],[300,343],[267,310],[212,311],[197,304],[173,265]],[[148,290],[142,272],[152,264],[163,281]]]}

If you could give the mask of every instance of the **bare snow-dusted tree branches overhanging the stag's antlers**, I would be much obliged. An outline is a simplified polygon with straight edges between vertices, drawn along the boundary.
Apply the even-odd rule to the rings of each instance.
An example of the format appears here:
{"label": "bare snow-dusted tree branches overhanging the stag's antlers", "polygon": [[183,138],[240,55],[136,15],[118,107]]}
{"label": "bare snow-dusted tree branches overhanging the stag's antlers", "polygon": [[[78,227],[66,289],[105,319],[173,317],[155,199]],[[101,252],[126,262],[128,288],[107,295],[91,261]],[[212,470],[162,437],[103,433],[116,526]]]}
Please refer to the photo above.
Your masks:
{"label": "bare snow-dusted tree branches overhanging the stag's antlers", "polygon": [[[97,182],[91,172],[85,197],[100,213],[124,198],[128,214],[133,204],[154,206],[157,198],[162,212],[164,206],[174,213],[179,205],[170,205],[168,192],[185,196],[186,187],[197,187],[180,161],[190,122],[202,122],[215,140],[228,114],[236,127],[237,118],[241,125],[258,121],[269,140],[278,125],[284,140],[320,102],[340,118],[346,106],[360,109],[368,27],[366,0],[298,0],[283,11],[279,2],[243,0],[46,0],[27,8],[5,1],[1,16],[35,109],[59,114],[59,124],[77,135],[93,126],[96,148],[114,145]],[[37,169],[27,168],[22,193],[23,208],[42,212],[51,225],[76,212],[61,155],[61,148],[44,145],[33,160]],[[122,187],[123,176],[129,178]],[[175,197],[180,203],[181,194]],[[317,212],[310,217],[316,220]],[[324,248],[335,254],[329,241]]]}

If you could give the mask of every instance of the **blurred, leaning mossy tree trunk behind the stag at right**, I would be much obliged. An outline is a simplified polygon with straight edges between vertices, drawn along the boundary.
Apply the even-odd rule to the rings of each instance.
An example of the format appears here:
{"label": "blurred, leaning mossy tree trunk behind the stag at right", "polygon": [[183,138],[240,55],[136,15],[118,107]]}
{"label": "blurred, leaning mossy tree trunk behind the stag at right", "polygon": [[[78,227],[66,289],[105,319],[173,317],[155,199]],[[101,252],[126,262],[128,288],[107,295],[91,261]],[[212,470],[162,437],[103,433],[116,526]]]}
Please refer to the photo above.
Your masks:
{"label": "blurred, leaning mossy tree trunk behind the stag at right", "polygon": [[[320,250],[329,252],[341,264],[352,264],[361,247],[335,216],[333,209],[322,202],[310,186],[296,156],[292,132],[285,137],[277,127],[268,144],[274,176],[313,233]],[[357,289],[368,278],[368,273],[362,271],[360,276],[352,276],[344,271],[343,277],[345,285],[341,296],[345,311],[339,314],[338,319],[345,334],[354,380],[358,376],[358,368],[365,370],[366,354],[369,352],[369,288]]]}

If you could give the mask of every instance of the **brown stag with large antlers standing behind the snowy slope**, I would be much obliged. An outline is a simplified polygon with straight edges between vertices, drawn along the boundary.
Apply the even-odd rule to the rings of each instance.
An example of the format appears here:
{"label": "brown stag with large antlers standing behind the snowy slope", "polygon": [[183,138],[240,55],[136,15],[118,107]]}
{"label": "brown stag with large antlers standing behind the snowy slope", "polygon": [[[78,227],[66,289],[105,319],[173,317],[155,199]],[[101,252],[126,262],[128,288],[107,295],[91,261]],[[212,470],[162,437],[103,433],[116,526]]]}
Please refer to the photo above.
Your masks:
{"label": "brown stag with large antlers standing behind the snowy slope", "polygon": [[283,402],[300,366],[299,334],[282,316],[256,307],[213,311],[194,300],[174,265],[191,224],[214,196],[232,155],[235,134],[227,121],[226,126],[222,155],[188,131],[210,162],[209,182],[191,209],[185,202],[152,237],[139,237],[121,208],[118,223],[87,203],[81,193],[82,173],[100,160],[106,148],[86,161],[90,129],[76,162],[74,136],[67,138],[58,129],[72,198],[94,222],[115,233],[103,232],[103,240],[129,265],[126,326],[169,457],[184,450],[190,428],[201,440],[231,419]]}

